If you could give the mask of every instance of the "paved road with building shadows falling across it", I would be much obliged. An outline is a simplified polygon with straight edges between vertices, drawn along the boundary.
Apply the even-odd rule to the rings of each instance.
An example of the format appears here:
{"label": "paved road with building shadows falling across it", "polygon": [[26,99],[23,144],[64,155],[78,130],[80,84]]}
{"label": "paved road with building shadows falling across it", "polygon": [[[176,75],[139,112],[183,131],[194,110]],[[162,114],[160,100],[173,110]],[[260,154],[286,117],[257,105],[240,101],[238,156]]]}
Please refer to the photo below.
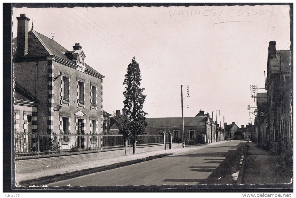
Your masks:
{"label": "paved road with building shadows falling across it", "polygon": [[245,140],[170,155],[109,171],[48,184],[47,186],[122,186],[234,184]]}

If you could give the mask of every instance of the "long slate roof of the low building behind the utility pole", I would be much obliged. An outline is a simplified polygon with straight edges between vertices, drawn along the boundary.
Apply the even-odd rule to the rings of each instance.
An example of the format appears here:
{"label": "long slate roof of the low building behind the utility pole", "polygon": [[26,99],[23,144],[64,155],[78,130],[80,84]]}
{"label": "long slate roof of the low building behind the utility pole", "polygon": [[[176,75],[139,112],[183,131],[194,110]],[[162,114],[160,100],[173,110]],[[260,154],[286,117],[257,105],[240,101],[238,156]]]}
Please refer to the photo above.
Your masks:
{"label": "long slate roof of the low building behind the utility pole", "polygon": [[[205,126],[206,116],[185,117],[184,126]],[[182,126],[182,118],[146,118],[148,127]]]}

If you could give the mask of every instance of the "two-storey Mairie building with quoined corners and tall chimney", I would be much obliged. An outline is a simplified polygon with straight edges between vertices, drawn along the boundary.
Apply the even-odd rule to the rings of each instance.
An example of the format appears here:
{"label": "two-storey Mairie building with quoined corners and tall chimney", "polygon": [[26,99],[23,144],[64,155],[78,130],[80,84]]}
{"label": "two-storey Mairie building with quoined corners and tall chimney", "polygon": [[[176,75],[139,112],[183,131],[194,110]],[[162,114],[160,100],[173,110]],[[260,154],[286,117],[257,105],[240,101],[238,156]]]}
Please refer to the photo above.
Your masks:
{"label": "two-storey Mairie building with quoined corners and tall chimney", "polygon": [[[33,25],[29,31],[30,19],[25,14],[17,21],[13,80],[18,130],[30,131],[23,124],[30,116],[32,132],[91,134],[106,130],[102,111],[104,76],[86,64],[82,46],[75,43],[73,50],[67,50],[33,30]],[[23,100],[30,103],[30,109],[19,105],[19,92],[26,95]]]}

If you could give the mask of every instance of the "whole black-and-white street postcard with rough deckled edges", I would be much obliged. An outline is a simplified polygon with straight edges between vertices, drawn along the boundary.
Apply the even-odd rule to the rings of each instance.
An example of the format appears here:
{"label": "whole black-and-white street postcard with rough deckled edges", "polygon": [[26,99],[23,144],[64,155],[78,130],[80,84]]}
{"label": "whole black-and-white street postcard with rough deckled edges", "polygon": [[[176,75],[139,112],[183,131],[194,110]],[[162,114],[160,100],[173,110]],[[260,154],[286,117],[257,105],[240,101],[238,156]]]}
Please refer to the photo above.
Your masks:
{"label": "whole black-and-white street postcard with rough deckled edges", "polygon": [[293,189],[293,4],[11,16],[14,189]]}

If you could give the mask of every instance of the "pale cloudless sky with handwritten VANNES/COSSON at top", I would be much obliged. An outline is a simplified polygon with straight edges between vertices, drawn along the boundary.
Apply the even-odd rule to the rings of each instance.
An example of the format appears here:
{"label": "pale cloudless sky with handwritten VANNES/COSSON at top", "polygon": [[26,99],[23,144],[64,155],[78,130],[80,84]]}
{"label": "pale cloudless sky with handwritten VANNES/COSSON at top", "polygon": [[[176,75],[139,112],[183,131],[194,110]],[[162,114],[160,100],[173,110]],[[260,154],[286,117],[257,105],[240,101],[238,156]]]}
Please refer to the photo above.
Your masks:
{"label": "pale cloudless sky with handwritten VANNES/COSSON at top", "polygon": [[[13,38],[25,13],[34,30],[73,50],[103,79],[103,110],[123,108],[124,75],[133,57],[140,65],[143,110],[148,118],[212,112],[218,124],[246,125],[256,107],[250,85],[264,88],[267,49],[290,49],[289,6],[13,8]],[[259,89],[258,92],[264,92]],[[256,101],[256,100],[255,100]],[[188,108],[187,108],[188,106]],[[220,116],[219,111],[220,110]],[[252,108],[254,111],[255,108]]]}

